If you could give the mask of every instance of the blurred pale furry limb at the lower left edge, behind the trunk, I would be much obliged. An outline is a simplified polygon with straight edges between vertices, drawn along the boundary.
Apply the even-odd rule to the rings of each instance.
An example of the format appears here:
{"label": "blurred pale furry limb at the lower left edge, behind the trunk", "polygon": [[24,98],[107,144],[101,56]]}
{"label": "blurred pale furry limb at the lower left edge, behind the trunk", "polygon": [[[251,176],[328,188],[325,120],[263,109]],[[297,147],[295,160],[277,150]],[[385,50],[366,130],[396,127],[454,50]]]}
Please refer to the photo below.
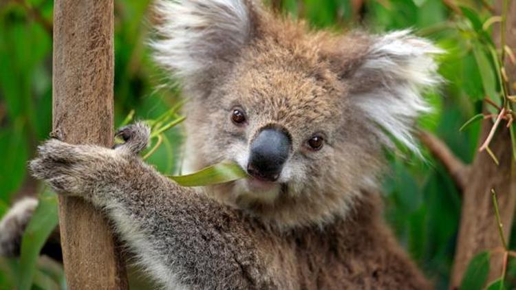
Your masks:
{"label": "blurred pale furry limb at the lower left edge, behind the trunk", "polygon": [[0,221],[0,256],[14,257],[20,254],[21,236],[30,221],[38,200],[26,197],[7,212]]}

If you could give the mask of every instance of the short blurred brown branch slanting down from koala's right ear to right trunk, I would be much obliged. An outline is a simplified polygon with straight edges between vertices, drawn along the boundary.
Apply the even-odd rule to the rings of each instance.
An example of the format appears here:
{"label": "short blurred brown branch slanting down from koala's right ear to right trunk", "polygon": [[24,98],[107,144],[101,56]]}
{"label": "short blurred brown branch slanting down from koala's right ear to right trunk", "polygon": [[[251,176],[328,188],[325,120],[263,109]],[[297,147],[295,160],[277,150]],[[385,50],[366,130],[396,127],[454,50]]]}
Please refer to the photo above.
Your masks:
{"label": "short blurred brown branch slanting down from koala's right ear to right trunk", "polygon": [[462,191],[466,188],[469,179],[470,168],[464,164],[458,157],[456,157],[447,144],[442,142],[438,137],[429,132],[421,131],[419,138],[428,148],[431,155],[436,157],[444,165],[444,168],[449,172],[450,177],[455,182],[455,185]]}

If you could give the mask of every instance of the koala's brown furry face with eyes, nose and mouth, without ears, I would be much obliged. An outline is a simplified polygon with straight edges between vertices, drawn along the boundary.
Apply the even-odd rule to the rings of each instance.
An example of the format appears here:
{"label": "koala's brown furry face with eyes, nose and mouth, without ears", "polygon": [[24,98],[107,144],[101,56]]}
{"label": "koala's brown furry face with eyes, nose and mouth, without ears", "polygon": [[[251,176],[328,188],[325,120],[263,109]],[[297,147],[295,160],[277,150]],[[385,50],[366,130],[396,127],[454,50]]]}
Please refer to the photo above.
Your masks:
{"label": "koala's brown furry face with eyes, nose and mouth, without ears", "polygon": [[197,104],[209,111],[205,159],[215,161],[217,152],[217,161],[235,161],[248,172],[230,193],[220,188],[244,207],[323,190],[321,177],[342,176],[338,171],[354,162],[339,167],[337,156],[357,139],[353,129],[343,130],[346,87],[336,76],[316,71],[311,56],[296,60],[285,47],[264,47],[246,52],[212,96]]}

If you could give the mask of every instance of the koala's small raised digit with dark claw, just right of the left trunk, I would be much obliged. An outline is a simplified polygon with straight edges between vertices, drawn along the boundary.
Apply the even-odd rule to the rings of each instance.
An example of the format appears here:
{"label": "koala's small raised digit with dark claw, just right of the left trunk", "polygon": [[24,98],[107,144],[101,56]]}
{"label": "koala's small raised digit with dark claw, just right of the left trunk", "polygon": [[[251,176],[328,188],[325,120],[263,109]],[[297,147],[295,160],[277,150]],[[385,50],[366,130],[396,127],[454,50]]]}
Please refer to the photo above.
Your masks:
{"label": "koala's small raised digit with dark claw, just right of the left trunk", "polygon": [[138,154],[147,148],[150,135],[151,129],[144,122],[124,126],[118,130],[116,136],[121,137],[125,143],[117,144],[114,148],[117,150],[129,150],[132,154]]}

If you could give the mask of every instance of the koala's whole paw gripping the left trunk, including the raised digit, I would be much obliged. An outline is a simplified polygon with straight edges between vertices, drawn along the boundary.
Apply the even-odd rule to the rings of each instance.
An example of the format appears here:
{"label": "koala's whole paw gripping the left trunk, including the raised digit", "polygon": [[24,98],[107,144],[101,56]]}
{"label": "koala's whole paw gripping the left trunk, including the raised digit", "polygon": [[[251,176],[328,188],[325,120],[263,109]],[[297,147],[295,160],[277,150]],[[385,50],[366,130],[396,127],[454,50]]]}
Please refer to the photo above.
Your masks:
{"label": "koala's whole paw gripping the left trunk, including the raised digit", "polygon": [[34,177],[45,180],[56,192],[82,196],[113,186],[129,173],[129,164],[147,147],[150,129],[142,122],[125,126],[117,133],[125,140],[115,149],[74,145],[56,139],[38,147],[39,156],[30,161]]}

